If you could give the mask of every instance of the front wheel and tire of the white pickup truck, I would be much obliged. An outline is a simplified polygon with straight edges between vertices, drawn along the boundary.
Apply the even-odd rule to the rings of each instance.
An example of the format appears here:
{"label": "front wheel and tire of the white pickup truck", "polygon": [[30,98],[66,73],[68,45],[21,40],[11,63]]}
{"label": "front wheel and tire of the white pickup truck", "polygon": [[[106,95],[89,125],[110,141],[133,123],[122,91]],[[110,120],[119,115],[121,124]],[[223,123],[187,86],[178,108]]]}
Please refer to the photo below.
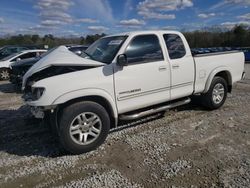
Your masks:
{"label": "front wheel and tire of the white pickup truck", "polygon": [[71,154],[96,149],[105,141],[109,129],[107,111],[91,101],[72,104],[63,109],[59,117],[59,139],[64,149]]}

